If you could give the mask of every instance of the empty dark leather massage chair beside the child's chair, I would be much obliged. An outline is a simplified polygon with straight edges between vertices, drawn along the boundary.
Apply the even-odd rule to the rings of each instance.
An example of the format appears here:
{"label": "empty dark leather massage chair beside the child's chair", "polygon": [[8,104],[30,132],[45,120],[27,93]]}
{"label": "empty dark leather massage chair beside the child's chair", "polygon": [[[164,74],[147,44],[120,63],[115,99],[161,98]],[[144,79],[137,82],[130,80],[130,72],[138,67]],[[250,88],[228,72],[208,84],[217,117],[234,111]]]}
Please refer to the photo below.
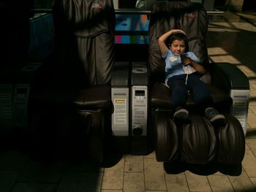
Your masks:
{"label": "empty dark leather massage chair beside the child's chair", "polygon": [[[54,53],[29,98],[34,155],[89,154],[102,162],[111,135],[115,60],[113,1],[56,0]],[[48,80],[51,79],[51,80]]]}

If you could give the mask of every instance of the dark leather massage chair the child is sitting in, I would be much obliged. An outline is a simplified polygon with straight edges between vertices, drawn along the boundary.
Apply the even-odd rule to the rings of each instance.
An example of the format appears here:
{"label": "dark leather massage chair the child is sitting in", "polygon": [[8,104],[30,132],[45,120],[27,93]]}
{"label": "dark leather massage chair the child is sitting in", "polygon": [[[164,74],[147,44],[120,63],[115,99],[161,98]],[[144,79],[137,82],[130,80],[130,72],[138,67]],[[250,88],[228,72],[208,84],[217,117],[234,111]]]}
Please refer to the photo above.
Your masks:
{"label": "dark leather massage chair the child is sitting in", "polygon": [[[208,69],[203,77],[211,90],[214,107],[225,115],[225,126],[213,126],[197,111],[189,96],[189,120],[181,126],[173,122],[170,89],[164,83],[165,61],[161,57],[157,39],[172,28],[185,31],[189,50],[194,52]],[[149,61],[151,119],[154,128],[157,161],[186,164],[241,164],[245,153],[244,127],[235,118],[236,99],[249,97],[249,81],[245,74],[229,63],[211,63],[206,47],[208,16],[202,4],[190,2],[159,2],[154,4],[149,24]],[[245,95],[238,96],[240,91]],[[239,93],[240,93],[239,92]],[[248,102],[244,104],[244,117]],[[246,120],[245,120],[246,122]]]}

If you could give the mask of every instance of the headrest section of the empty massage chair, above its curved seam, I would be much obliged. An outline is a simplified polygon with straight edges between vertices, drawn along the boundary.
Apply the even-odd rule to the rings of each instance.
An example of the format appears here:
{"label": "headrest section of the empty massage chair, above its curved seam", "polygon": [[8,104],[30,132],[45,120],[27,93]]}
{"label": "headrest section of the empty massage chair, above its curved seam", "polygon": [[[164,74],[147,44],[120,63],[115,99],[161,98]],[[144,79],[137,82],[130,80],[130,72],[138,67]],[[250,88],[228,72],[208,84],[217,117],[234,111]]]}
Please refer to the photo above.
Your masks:
{"label": "headrest section of the empty massage chair, above its curved seam", "polygon": [[78,37],[93,37],[106,31],[114,34],[115,9],[111,0],[56,0],[53,16],[56,26],[62,23],[62,28]]}

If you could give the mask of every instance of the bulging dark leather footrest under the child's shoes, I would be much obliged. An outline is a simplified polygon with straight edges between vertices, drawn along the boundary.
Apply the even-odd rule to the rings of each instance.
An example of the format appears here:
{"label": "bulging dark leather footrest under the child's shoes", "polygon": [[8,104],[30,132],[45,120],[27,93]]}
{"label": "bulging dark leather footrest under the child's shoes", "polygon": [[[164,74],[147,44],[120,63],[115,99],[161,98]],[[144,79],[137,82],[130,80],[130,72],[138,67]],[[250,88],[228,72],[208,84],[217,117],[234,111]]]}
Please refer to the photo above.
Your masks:
{"label": "bulging dark leather footrest under the child's shoes", "polygon": [[200,115],[176,126],[167,112],[153,112],[157,161],[186,164],[241,164],[245,138],[239,121],[225,115],[225,126],[214,127]]}

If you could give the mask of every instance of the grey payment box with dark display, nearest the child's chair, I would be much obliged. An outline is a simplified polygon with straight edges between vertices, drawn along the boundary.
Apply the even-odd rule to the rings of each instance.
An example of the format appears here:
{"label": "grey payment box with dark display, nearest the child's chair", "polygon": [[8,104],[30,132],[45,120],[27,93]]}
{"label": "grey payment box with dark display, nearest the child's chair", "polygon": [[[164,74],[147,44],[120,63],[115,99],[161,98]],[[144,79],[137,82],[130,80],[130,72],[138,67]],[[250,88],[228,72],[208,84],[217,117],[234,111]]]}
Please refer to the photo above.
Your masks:
{"label": "grey payment box with dark display, nearest the child's chair", "polygon": [[148,153],[148,70],[133,62],[131,74],[131,153]]}

